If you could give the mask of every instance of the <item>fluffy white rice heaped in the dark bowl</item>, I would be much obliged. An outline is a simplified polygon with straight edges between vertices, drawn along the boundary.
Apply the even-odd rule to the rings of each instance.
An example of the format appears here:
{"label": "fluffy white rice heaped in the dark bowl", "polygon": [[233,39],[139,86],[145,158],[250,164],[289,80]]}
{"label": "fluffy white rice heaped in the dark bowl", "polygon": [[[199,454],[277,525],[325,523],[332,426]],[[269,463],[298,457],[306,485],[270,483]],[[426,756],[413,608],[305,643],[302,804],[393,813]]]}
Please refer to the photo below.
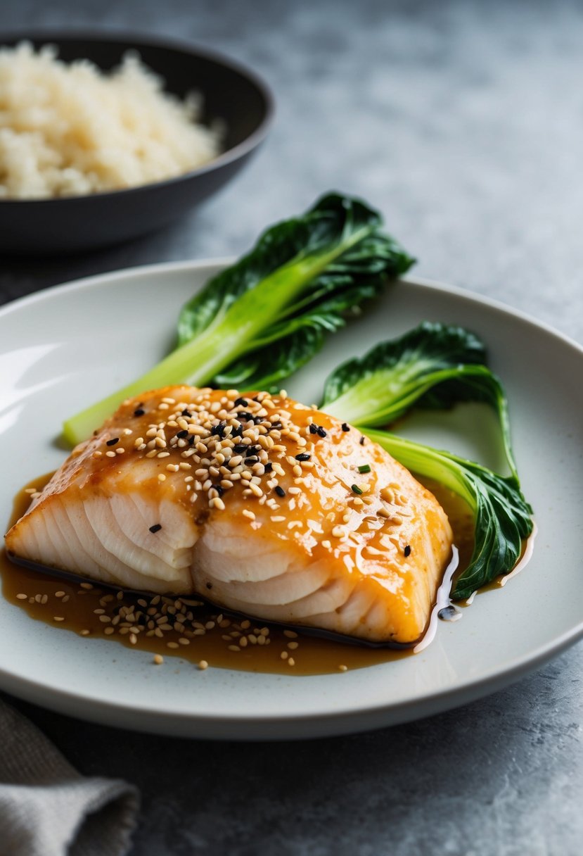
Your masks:
{"label": "fluffy white rice heaped in the dark bowl", "polygon": [[0,199],[48,199],[181,175],[219,153],[199,99],[162,92],[135,54],[104,74],[50,45],[0,49]]}

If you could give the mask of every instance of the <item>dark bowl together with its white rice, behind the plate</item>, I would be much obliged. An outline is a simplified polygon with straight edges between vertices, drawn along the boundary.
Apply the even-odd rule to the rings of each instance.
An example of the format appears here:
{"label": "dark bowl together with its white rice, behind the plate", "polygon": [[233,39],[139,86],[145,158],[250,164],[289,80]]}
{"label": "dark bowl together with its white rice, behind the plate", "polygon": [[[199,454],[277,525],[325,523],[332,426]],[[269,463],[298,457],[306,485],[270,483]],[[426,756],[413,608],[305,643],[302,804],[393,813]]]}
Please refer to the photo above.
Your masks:
{"label": "dark bowl together with its white rice, behind the plate", "polygon": [[146,235],[218,191],[273,98],[212,51],[119,35],[0,38],[0,253]]}

